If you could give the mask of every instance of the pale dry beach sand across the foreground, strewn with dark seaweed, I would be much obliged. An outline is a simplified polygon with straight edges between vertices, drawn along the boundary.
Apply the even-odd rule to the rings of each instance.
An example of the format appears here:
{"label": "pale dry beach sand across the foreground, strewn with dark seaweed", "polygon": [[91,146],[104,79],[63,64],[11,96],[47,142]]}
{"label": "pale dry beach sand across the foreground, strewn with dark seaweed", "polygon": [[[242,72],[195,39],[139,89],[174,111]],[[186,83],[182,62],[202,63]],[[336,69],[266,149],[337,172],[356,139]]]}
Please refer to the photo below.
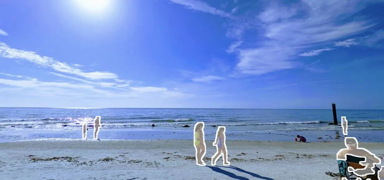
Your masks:
{"label": "pale dry beach sand across the foreground, strewn with dark seaweed", "polygon": [[[2,180],[226,180],[329,179],[338,172],[343,142],[227,141],[230,167],[210,165],[216,149],[206,141],[207,166],[194,160],[192,141],[46,139],[0,143]],[[378,156],[384,143],[359,143]]]}

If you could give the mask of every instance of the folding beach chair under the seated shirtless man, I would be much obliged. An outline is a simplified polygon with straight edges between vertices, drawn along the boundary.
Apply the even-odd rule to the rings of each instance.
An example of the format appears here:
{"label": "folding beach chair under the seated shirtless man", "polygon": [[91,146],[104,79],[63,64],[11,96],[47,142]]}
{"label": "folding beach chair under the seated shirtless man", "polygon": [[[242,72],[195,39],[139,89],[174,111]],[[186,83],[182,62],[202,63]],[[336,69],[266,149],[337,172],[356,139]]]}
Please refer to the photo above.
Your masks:
{"label": "folding beach chair under the seated shirtless man", "polygon": [[377,178],[377,172],[380,170],[379,168],[375,167],[375,173],[366,175],[365,177],[358,176],[354,174],[353,172],[348,172],[348,167],[353,167],[354,169],[363,169],[364,166],[359,164],[359,162],[364,161],[365,158],[363,157],[356,157],[352,155],[347,155],[347,160],[338,160],[339,164],[339,173],[340,173],[340,179],[343,177],[346,177],[347,180],[354,180],[356,178],[361,178],[362,180],[378,180]]}

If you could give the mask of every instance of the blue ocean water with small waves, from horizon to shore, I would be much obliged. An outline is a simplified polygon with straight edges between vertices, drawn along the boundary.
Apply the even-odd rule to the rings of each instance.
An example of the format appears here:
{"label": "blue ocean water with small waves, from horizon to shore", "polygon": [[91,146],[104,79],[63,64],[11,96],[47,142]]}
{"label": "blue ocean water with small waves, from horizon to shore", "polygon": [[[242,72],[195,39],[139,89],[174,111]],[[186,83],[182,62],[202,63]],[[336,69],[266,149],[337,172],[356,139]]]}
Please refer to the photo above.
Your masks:
{"label": "blue ocean water with small waves, from horizon to shore", "polygon": [[[337,115],[339,123],[341,116],[347,117],[349,132],[360,131],[370,134],[376,132],[374,133],[375,136],[384,134],[382,133],[384,130],[384,110],[338,110]],[[62,134],[60,137],[68,137],[63,135],[65,134],[63,132],[79,131],[80,133],[81,124],[87,122],[92,125],[95,116],[101,116],[102,129],[100,132],[109,132],[109,138],[113,136],[117,139],[125,138],[123,136],[126,134],[135,134],[132,132],[142,134],[140,137],[132,138],[146,139],[142,137],[148,136],[148,134],[142,133],[146,131],[151,131],[150,134],[152,133],[152,135],[157,134],[157,139],[159,137],[170,138],[167,135],[172,135],[172,133],[175,136],[179,134],[178,136],[181,137],[184,135],[180,134],[193,131],[192,128],[183,128],[182,126],[193,127],[196,122],[200,121],[205,123],[205,130],[209,132],[215,132],[216,127],[212,127],[215,125],[226,126],[227,132],[232,132],[232,134],[287,135],[289,132],[301,132],[301,134],[310,135],[316,134],[316,132],[342,131],[341,126],[328,125],[328,123],[333,122],[332,110],[0,108],[0,134],[3,135],[0,136],[0,141],[9,132],[47,132],[43,130],[50,130]],[[151,127],[152,124],[155,124],[156,127]],[[116,137],[111,132],[118,132],[120,135]],[[257,137],[254,134],[250,137]],[[343,134],[341,133],[341,135]],[[362,136],[365,135],[363,133]],[[99,136],[102,137],[103,133]],[[289,136],[293,135],[290,134]],[[243,136],[244,138],[245,136]],[[258,138],[265,139],[262,136]]]}

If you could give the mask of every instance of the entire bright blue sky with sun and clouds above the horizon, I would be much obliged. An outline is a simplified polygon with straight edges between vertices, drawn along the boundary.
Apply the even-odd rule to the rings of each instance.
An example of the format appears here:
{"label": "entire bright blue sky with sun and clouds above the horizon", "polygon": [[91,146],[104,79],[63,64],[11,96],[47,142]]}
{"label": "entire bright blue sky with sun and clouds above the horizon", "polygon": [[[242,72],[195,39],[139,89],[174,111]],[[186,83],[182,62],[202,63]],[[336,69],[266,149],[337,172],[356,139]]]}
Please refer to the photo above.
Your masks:
{"label": "entire bright blue sky with sun and clouds above the horizon", "polygon": [[380,0],[1,3],[2,107],[384,109]]}

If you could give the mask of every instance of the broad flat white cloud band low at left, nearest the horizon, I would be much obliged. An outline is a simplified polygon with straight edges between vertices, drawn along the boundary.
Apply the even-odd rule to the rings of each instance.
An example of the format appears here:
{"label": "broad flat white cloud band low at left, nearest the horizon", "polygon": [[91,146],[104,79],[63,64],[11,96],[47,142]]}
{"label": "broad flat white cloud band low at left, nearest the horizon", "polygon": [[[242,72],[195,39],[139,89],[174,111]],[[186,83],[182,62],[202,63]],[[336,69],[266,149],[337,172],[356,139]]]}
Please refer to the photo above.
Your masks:
{"label": "broad flat white cloud band low at left, nearest the horizon", "polygon": [[[17,80],[0,79],[0,85],[5,85],[10,88],[1,88],[2,92],[18,93],[23,95],[33,96],[66,96],[66,97],[97,97],[97,98],[128,98],[128,97],[192,97],[191,94],[185,94],[177,91],[169,91],[162,87],[129,87],[127,89],[119,88],[119,86],[106,82],[91,82],[83,79],[69,77],[66,75],[55,75],[77,80],[82,83],[64,82],[64,81],[41,81],[36,78],[5,74],[9,77],[17,77]],[[114,89],[112,91],[111,89]],[[153,94],[156,93],[156,94]]]}

